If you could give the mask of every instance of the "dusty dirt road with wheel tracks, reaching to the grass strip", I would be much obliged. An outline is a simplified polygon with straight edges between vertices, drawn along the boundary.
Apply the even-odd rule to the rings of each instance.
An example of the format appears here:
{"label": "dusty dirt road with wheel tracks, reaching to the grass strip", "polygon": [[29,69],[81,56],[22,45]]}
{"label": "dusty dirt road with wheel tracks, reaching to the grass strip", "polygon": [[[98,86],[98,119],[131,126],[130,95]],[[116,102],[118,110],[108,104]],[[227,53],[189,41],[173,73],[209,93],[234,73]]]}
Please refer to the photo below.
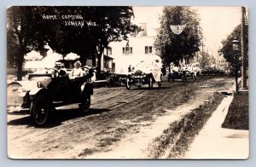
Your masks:
{"label": "dusty dirt road with wheel tracks, reaching to the grass strip", "polygon": [[[154,139],[173,122],[201,107],[215,91],[230,89],[233,78],[164,81],[162,88],[97,88],[90,112],[76,106],[53,112],[49,125],[37,128],[29,115],[7,114],[9,158],[167,158],[151,155]],[[154,146],[155,147],[155,146]]]}

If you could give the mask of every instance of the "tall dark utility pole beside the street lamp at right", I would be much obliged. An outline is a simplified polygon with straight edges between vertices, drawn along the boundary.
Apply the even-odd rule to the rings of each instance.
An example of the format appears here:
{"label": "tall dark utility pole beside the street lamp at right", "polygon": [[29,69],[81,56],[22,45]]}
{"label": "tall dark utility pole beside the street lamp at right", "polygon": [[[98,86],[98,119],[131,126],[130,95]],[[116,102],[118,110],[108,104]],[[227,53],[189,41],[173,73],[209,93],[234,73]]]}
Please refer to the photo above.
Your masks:
{"label": "tall dark utility pole beside the street lamp at right", "polygon": [[245,7],[241,7],[241,88],[247,88],[247,74],[246,74],[246,62],[245,62]]}

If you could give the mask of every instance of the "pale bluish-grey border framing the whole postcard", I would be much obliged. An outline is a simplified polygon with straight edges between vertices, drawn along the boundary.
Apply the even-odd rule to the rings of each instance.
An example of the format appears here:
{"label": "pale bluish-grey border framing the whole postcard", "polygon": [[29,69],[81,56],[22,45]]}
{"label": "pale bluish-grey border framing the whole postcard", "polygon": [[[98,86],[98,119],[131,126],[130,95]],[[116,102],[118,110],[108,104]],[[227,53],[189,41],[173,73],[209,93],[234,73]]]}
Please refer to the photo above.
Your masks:
{"label": "pale bluish-grey border framing the whole postcard", "polygon": [[256,17],[256,7],[254,5],[253,0],[245,0],[245,1],[232,1],[232,0],[218,0],[218,1],[209,1],[209,0],[199,0],[199,1],[167,1],[167,0],[160,0],[160,1],[129,1],[126,0],[124,2],[120,2],[117,0],[89,0],[84,3],[82,0],[75,1],[75,3],[71,3],[71,1],[18,1],[18,0],[3,0],[1,1],[1,18],[0,23],[1,27],[1,55],[2,55],[2,61],[1,61],[1,71],[0,75],[2,77],[2,80],[0,82],[1,88],[4,88],[3,92],[6,92],[6,62],[7,62],[7,51],[6,51],[6,9],[10,5],[20,5],[20,6],[31,6],[31,5],[40,5],[40,6],[91,6],[91,5],[97,5],[97,6],[118,6],[118,5],[131,5],[131,6],[166,6],[166,5],[172,5],[172,6],[246,6],[249,9],[249,118],[250,118],[250,124],[249,124],[249,130],[250,130],[250,158],[247,160],[13,160],[7,158],[7,124],[6,124],[6,94],[1,95],[1,108],[2,108],[2,114],[1,114],[1,131],[4,134],[1,137],[0,146],[4,149],[1,149],[0,151],[0,162],[4,166],[31,166],[31,165],[37,165],[37,166],[44,166],[44,165],[61,165],[62,167],[70,166],[70,165],[94,165],[94,166],[131,166],[131,165],[143,165],[143,166],[156,166],[156,165],[166,165],[170,166],[172,164],[178,165],[178,166],[205,166],[206,164],[208,166],[241,166],[241,165],[247,165],[247,166],[253,166],[255,164],[255,151],[253,151],[252,148],[255,147],[255,122],[253,121],[253,118],[255,118],[255,112],[253,112],[253,109],[256,109],[255,104],[253,104],[253,101],[256,100],[256,96],[253,94],[255,91],[255,77],[253,77],[253,73],[256,72],[255,68],[256,66],[253,66],[256,63],[256,58],[253,55],[256,55],[256,49],[255,46],[255,17]]}

